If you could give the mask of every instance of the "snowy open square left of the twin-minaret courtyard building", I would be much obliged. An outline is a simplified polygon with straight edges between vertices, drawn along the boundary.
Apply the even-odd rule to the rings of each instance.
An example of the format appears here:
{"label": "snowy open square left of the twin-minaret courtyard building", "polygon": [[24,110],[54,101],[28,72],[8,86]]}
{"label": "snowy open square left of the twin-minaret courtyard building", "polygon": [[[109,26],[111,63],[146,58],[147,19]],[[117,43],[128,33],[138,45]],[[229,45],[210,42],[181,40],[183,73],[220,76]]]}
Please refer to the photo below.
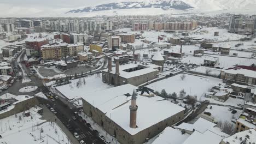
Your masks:
{"label": "snowy open square left of the twin-minaret courtyard building", "polygon": [[71,83],[55,87],[68,99],[80,98],[90,92],[100,91],[113,86],[102,82],[101,74],[95,74],[80,79],[71,80]]}

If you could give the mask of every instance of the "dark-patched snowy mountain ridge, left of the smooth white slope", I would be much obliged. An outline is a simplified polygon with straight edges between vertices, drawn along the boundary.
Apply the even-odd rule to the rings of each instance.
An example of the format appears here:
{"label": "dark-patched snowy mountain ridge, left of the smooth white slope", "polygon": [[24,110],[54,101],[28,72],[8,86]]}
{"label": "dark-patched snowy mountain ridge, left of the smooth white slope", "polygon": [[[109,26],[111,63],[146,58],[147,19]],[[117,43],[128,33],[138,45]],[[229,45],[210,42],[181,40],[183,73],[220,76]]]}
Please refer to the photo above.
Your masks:
{"label": "dark-patched snowy mountain ridge, left of the smooth white slope", "polygon": [[96,5],[95,7],[85,7],[82,9],[70,10],[67,13],[83,13],[102,10],[118,10],[118,9],[141,9],[141,8],[159,8],[162,10],[178,9],[186,10],[193,8],[189,4],[178,0],[144,0],[144,1],[123,1]]}

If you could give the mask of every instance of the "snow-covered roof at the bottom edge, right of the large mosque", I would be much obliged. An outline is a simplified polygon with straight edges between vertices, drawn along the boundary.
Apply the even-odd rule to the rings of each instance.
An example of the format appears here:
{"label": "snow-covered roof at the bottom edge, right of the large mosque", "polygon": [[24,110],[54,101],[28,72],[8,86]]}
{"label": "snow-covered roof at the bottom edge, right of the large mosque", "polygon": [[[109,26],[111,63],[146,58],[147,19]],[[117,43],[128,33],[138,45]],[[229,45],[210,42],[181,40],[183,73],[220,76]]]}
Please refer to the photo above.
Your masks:
{"label": "snow-covered roof at the bottom edge, right of the large mosque", "polygon": [[183,142],[183,144],[219,144],[222,139],[222,136],[219,136],[210,130],[206,130],[204,133],[195,131]]}

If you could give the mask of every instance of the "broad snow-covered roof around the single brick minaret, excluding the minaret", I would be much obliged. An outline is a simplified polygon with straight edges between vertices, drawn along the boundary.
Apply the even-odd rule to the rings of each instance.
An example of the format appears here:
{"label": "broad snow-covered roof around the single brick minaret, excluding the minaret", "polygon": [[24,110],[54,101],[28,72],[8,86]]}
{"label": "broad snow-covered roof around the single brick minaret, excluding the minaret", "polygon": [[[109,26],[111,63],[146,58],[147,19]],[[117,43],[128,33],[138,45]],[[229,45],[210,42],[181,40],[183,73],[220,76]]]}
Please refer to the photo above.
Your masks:
{"label": "broad snow-covered roof around the single brick minaret, excluding the minaret", "polygon": [[[183,107],[158,96],[148,98],[138,95],[138,127],[135,129],[130,128],[129,106],[131,105],[131,96],[126,96],[125,94],[129,93],[131,95],[134,89],[137,89],[137,87],[127,84],[93,92],[82,98],[105,113],[107,117],[112,119],[113,122],[117,123],[131,135],[135,135],[139,131],[147,129],[184,110]],[[155,109],[155,107],[158,109]],[[145,121],[145,119],[147,119],[147,121]]]}

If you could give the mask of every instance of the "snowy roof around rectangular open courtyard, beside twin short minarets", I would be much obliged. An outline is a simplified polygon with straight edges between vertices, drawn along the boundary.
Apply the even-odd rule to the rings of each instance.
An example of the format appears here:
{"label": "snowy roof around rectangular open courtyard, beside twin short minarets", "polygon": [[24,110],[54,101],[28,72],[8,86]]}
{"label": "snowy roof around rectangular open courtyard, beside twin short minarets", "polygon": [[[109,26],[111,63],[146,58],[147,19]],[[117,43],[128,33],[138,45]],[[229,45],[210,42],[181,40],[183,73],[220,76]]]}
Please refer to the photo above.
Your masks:
{"label": "snowy roof around rectangular open courtyard, beside twin short minarets", "polygon": [[[138,65],[144,67],[144,69],[139,69],[131,72],[124,71],[126,69],[136,68],[138,67]],[[124,77],[125,79],[129,79],[131,77],[141,76],[144,74],[152,73],[153,71],[158,71],[159,67],[160,67],[159,65],[155,65],[155,64],[143,65],[143,64],[130,63],[125,65],[120,65],[119,73],[121,77]],[[102,71],[107,72],[108,69],[104,69]],[[110,71],[110,73],[115,74],[115,68],[112,68],[112,71]]]}

